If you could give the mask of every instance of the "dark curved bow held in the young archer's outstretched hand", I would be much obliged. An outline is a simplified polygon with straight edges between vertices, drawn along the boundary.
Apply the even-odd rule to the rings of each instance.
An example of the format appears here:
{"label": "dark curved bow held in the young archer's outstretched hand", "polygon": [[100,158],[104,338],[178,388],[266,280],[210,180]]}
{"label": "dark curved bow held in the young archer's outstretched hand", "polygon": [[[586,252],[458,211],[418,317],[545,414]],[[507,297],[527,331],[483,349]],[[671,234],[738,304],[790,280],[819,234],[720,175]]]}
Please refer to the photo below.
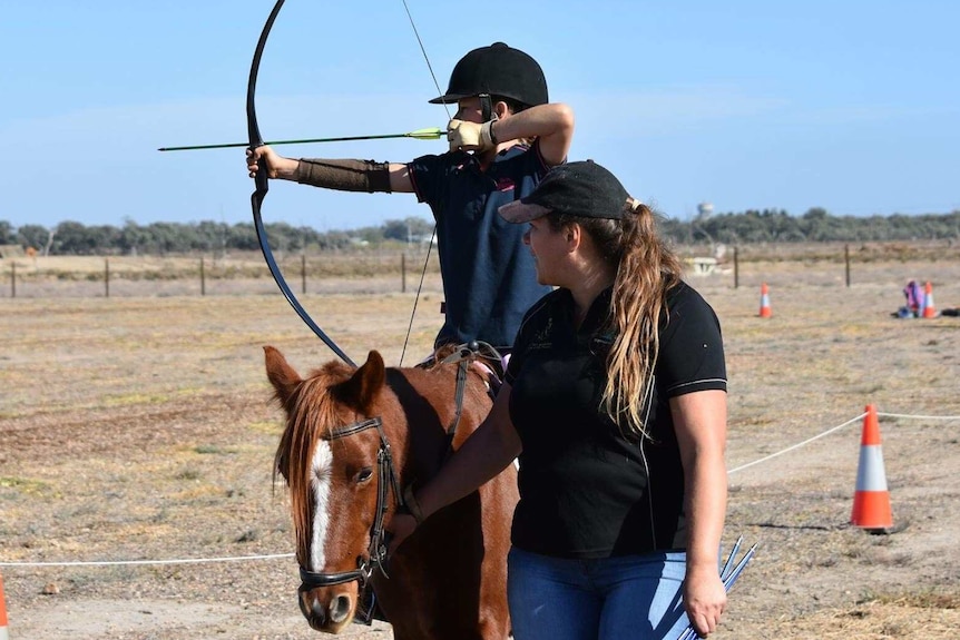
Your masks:
{"label": "dark curved bow held in the young archer's outstretched hand", "polygon": [[[273,28],[274,20],[276,20],[277,14],[280,13],[281,8],[283,7],[284,0],[277,0],[276,4],[274,4],[273,10],[270,12],[270,17],[266,19],[266,23],[263,26],[263,31],[259,35],[259,40],[256,45],[256,50],[253,55],[253,62],[249,68],[249,81],[247,82],[247,93],[246,93],[246,117],[247,117],[247,135],[249,138],[249,148],[256,149],[257,147],[263,147],[263,136],[259,132],[259,125],[257,125],[256,120],[256,105],[254,101],[254,96],[256,93],[256,78],[259,72],[259,61],[263,57],[263,50],[266,46],[267,37],[270,36],[270,31]],[[270,273],[273,274],[273,279],[276,280],[276,285],[280,287],[280,291],[283,292],[286,302],[294,308],[296,314],[301,317],[301,319],[306,323],[313,333],[323,341],[323,343],[333,351],[343,362],[351,366],[356,366],[356,364],[347,357],[343,351],[336,346],[330,336],[327,336],[320,326],[313,322],[313,318],[310,317],[310,314],[303,308],[300,304],[300,301],[296,299],[296,296],[293,295],[290,286],[286,284],[286,280],[283,277],[283,274],[280,270],[280,267],[276,264],[276,260],[273,257],[273,252],[270,248],[270,243],[267,242],[266,229],[263,225],[263,217],[261,215],[261,208],[263,207],[263,200],[266,197],[267,191],[270,190],[268,177],[267,177],[267,166],[266,160],[263,158],[257,163],[257,171],[255,177],[255,190],[251,195],[251,208],[253,209],[253,221],[254,227],[256,228],[257,240],[259,242],[259,248],[263,252],[263,257],[266,260],[267,266],[270,267]]]}

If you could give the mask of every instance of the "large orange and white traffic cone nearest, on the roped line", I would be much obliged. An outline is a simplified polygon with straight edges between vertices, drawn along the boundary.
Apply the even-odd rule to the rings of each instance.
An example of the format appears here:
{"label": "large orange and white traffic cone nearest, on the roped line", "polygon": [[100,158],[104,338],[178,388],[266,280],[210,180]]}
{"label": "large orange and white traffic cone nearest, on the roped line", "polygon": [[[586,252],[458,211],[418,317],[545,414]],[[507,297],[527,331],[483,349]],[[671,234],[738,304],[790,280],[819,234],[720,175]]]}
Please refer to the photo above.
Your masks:
{"label": "large orange and white traffic cone nearest, on the roped line", "polygon": [[856,467],[856,493],[850,523],[871,533],[886,533],[893,526],[883,451],[880,445],[880,424],[876,407],[866,405],[863,434],[860,439],[860,464]]}

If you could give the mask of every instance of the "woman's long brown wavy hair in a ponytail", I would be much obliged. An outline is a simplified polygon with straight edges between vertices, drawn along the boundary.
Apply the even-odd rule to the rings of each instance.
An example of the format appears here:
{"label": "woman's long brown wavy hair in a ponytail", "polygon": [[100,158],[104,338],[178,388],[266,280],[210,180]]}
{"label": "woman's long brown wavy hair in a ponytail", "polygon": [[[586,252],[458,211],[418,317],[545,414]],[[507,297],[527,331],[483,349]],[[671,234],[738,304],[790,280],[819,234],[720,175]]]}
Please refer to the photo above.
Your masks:
{"label": "woman's long brown wavy hair in a ponytail", "polygon": [[616,267],[601,397],[606,413],[637,435],[649,435],[644,407],[653,390],[660,347],[660,318],[667,317],[667,292],[680,282],[683,267],[657,234],[657,215],[639,200],[627,201],[620,219],[549,214],[551,226],[577,224],[594,240],[603,260]]}

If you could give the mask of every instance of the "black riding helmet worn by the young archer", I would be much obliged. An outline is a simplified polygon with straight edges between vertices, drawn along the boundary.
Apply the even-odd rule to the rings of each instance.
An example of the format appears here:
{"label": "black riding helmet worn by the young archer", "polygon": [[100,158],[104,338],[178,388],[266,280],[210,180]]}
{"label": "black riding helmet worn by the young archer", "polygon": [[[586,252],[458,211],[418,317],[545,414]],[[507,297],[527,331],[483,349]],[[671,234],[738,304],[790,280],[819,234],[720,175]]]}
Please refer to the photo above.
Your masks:
{"label": "black riding helmet worn by the young archer", "polygon": [[549,102],[547,79],[540,65],[503,42],[493,42],[463,56],[450,73],[447,92],[430,104],[445,105],[473,96],[509,98],[525,107]]}

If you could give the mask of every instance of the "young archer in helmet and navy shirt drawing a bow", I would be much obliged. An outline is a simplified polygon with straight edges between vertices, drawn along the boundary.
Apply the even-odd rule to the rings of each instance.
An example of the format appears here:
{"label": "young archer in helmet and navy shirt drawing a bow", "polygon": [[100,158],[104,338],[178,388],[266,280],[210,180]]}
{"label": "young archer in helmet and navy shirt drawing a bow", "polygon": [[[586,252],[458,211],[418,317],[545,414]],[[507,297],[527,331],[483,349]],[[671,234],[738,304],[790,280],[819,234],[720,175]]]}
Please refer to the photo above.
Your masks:
{"label": "young archer in helmet and navy shirt drawing a bow", "polygon": [[437,223],[445,316],[434,346],[482,341],[508,352],[523,314],[550,287],[537,283],[525,229],[497,210],[529,195],[566,160],[574,114],[549,102],[540,65],[503,42],[463,56],[447,92],[430,102],[457,104],[443,154],[409,163],[292,159],[264,146],[247,150],[247,168],[255,175],[263,159],[271,178],[414,194]]}

